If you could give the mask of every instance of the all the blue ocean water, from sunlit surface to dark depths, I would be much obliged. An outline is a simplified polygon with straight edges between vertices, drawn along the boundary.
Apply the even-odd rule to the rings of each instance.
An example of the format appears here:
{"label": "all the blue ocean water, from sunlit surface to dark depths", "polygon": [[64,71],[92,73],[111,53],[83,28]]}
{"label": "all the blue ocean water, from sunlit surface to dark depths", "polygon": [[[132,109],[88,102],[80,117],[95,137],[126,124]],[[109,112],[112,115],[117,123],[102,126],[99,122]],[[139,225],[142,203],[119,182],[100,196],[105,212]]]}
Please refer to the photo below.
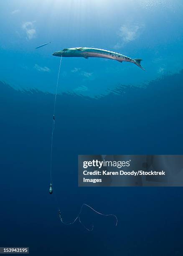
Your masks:
{"label": "all the blue ocean water, from sunlit surface to dark depths", "polygon": [[[79,154],[183,154],[181,1],[0,3],[0,246],[30,255],[182,256],[181,187],[78,187]],[[36,46],[51,44],[35,50]],[[49,195],[54,51],[88,46],[144,59],[64,59]]]}

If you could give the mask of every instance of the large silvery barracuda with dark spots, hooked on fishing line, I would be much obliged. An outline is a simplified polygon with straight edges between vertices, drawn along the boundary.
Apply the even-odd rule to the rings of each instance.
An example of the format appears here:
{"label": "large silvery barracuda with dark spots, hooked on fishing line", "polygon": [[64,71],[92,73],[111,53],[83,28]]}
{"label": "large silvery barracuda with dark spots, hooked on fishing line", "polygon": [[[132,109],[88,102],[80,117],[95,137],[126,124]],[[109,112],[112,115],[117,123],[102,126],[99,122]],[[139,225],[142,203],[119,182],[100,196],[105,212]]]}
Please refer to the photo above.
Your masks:
{"label": "large silvery barracuda with dark spots, hooked on fishing line", "polygon": [[86,48],[86,47],[68,48],[68,49],[63,49],[61,51],[54,52],[53,56],[84,57],[85,59],[88,59],[89,57],[114,59],[119,62],[122,62],[122,61],[132,62],[136,64],[138,67],[140,67],[141,69],[143,69],[140,65],[140,61],[142,61],[142,59],[132,59],[120,53],[117,53],[114,51],[102,50],[102,49]]}

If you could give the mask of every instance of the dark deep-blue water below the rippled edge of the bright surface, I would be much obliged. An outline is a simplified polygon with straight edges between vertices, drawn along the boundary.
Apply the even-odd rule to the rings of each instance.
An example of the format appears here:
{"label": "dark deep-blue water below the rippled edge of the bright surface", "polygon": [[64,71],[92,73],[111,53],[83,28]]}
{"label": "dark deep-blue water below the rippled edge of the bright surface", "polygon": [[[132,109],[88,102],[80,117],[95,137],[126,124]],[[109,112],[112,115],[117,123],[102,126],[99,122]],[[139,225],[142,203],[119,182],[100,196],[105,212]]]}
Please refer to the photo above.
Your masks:
{"label": "dark deep-blue water below the rippled edge of the bright surface", "polygon": [[183,255],[182,187],[78,187],[78,154],[183,154],[183,72],[144,88],[119,86],[100,99],[58,95],[53,180],[65,221],[49,195],[54,95],[0,83],[0,246],[30,255]]}

